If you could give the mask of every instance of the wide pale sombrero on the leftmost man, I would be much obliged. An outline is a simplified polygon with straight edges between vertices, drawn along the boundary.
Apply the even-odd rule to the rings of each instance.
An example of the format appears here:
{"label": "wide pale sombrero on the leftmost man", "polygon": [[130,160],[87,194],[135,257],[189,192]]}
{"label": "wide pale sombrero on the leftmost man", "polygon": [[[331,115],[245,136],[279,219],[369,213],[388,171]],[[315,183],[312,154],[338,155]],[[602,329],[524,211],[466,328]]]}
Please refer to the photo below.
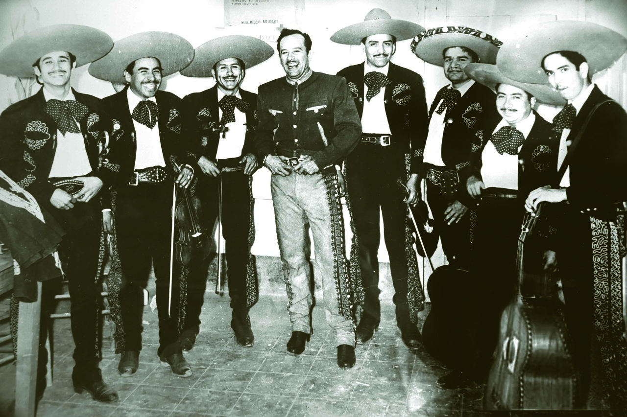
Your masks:
{"label": "wide pale sombrero on the leftmost man", "polygon": [[15,39],[0,51],[0,74],[33,77],[33,64],[50,52],[65,51],[76,56],[76,66],[107,54],[113,39],[103,31],[80,24],[55,24],[36,29]]}

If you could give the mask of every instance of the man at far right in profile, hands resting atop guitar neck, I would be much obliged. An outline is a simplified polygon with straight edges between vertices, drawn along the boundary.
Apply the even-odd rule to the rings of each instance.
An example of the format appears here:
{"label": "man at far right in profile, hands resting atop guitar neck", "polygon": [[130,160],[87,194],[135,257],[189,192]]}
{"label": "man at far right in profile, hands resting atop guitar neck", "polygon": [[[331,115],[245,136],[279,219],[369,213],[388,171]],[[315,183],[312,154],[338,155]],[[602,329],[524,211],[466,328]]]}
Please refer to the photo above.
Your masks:
{"label": "man at far right in profile, hands resting atop guitar neck", "polygon": [[609,405],[623,412],[627,343],[620,264],[625,254],[627,113],[590,78],[624,54],[627,39],[604,26],[579,21],[546,22],[529,28],[526,35],[512,41],[499,56],[498,66],[518,80],[548,80],[567,101],[553,120],[560,139],[557,180],[551,188],[530,192],[526,208],[532,212],[544,202],[543,210],[551,210],[557,227],[566,325],[581,376],[576,405],[599,405],[589,402],[599,401],[593,393],[601,388],[591,388],[591,381],[594,373],[603,371]]}

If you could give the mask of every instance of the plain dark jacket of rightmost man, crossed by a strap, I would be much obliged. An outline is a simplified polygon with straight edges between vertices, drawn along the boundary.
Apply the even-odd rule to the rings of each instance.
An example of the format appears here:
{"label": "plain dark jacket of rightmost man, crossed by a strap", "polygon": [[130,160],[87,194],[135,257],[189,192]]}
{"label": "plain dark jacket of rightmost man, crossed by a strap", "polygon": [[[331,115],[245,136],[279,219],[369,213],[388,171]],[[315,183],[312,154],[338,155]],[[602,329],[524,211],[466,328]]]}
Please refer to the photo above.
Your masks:
{"label": "plain dark jacket of rightmost man, crossed by a strap", "polygon": [[[606,100],[597,86],[577,114],[568,140],[582,130],[594,106]],[[583,131],[574,152],[569,152],[569,203],[576,210],[604,211],[627,200],[627,113],[611,100],[601,105]],[[594,210],[598,209],[598,210]]]}

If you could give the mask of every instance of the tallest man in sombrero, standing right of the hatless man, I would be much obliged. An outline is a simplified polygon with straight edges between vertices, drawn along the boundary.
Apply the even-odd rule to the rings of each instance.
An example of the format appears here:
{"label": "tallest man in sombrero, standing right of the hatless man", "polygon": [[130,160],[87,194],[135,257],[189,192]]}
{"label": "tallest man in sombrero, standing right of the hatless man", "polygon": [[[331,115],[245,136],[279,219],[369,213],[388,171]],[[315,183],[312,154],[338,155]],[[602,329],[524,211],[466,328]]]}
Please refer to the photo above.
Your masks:
{"label": "tallest man in sombrero, standing right of the hatless man", "polygon": [[[424,29],[418,24],[391,19],[372,9],[363,22],[340,29],[331,40],[359,44],[366,61],[337,75],[346,78],[361,116],[362,136],[345,162],[352,221],[359,242],[359,265],[364,283],[364,305],[355,336],[369,341],[381,321],[379,303],[379,210],[389,255],[396,323],[401,339],[412,350],[420,346],[416,326],[424,308],[413,237],[408,227],[408,206],[418,202],[418,163],[413,151],[424,142],[427,105],[421,76],[391,63],[396,41],[413,38]],[[409,195],[401,186],[406,184]],[[411,291],[410,291],[411,289]]]}

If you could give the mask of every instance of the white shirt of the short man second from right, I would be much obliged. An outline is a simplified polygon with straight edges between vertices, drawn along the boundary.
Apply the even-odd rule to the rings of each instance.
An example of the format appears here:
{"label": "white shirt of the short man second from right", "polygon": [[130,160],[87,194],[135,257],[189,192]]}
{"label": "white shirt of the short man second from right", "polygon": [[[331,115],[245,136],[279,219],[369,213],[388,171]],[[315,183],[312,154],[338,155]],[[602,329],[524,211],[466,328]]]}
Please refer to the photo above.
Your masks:
{"label": "white shirt of the short man second from right", "polygon": [[[535,123],[534,113],[530,113],[529,116],[523,121],[517,123],[515,128],[519,130],[525,139],[529,136],[529,132]],[[508,126],[507,121],[502,119],[498,123],[497,128],[492,132],[496,133],[503,126]],[[520,151],[522,144],[518,148]],[[503,152],[503,155],[497,152],[492,141],[486,143],[481,154],[482,167],[481,177],[485,187],[498,187],[507,188],[508,190],[518,190],[518,155],[510,155],[507,152]]]}

